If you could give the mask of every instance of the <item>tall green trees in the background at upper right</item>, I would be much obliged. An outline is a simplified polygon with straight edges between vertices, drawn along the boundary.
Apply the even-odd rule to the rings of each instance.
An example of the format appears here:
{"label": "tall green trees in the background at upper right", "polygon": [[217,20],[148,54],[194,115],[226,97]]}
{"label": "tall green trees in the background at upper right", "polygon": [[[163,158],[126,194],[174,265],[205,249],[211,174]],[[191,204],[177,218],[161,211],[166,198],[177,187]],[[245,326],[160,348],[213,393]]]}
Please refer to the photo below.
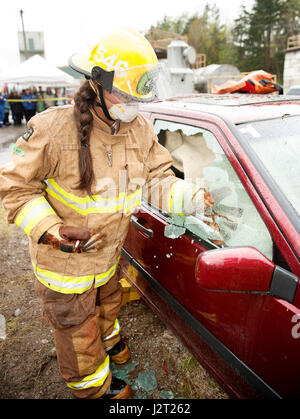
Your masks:
{"label": "tall green trees in the background at upper right", "polygon": [[220,22],[216,5],[201,14],[164,16],[153,29],[188,36],[188,43],[207,56],[209,64],[231,64],[240,71],[263,69],[282,80],[287,38],[300,32],[300,0],[255,0],[242,6],[233,25]]}

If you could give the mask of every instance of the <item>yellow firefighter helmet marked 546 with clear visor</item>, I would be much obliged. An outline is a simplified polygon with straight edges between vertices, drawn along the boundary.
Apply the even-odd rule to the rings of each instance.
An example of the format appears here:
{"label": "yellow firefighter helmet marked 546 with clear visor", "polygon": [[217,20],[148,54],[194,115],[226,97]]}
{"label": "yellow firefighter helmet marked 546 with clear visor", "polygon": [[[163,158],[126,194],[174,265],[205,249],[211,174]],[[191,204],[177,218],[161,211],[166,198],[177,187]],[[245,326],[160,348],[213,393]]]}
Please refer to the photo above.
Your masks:
{"label": "yellow firefighter helmet marked 546 with clear visor", "polygon": [[158,59],[147,39],[133,29],[122,27],[108,33],[88,51],[72,55],[69,66],[110,93],[153,100]]}

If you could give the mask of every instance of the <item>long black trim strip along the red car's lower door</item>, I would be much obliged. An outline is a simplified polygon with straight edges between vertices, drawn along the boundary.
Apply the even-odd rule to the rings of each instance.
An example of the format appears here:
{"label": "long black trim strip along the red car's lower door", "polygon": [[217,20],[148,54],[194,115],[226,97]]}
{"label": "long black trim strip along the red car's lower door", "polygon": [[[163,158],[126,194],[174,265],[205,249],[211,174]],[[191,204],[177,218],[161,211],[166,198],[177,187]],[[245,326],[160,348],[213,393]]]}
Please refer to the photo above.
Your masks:
{"label": "long black trim strip along the red car's lower door", "polygon": [[200,337],[214,352],[216,352],[245,382],[247,382],[263,398],[281,399],[282,397],[272,389],[261,377],[239,359],[226,345],[214,336],[205,326],[191,315],[162,285],[154,279],[129,252],[122,248],[122,256],[143,278],[154,291],[165,301],[176,314]]}

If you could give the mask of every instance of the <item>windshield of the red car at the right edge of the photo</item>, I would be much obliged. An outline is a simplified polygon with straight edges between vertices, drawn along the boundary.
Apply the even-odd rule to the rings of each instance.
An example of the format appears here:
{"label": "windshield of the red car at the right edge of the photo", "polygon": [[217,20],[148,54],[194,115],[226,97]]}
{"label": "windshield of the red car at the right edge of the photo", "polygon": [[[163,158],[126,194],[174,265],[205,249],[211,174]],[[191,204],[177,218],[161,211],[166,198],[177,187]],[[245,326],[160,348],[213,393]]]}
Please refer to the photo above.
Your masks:
{"label": "windshield of the red car at the right edge of the photo", "polygon": [[300,116],[241,124],[239,130],[299,216]]}

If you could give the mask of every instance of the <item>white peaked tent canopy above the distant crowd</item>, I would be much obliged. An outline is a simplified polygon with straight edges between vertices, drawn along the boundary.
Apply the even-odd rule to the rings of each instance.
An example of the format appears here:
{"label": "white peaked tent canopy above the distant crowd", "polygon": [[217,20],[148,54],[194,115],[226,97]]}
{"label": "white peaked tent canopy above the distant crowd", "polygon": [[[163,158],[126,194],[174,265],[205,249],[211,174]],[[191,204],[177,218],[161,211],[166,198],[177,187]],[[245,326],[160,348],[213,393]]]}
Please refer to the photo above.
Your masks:
{"label": "white peaked tent canopy above the distant crowd", "polygon": [[78,80],[52,64],[49,64],[40,55],[34,55],[22,62],[9,74],[1,75],[0,83],[13,83],[26,86],[44,84],[47,86],[71,87],[77,86]]}

